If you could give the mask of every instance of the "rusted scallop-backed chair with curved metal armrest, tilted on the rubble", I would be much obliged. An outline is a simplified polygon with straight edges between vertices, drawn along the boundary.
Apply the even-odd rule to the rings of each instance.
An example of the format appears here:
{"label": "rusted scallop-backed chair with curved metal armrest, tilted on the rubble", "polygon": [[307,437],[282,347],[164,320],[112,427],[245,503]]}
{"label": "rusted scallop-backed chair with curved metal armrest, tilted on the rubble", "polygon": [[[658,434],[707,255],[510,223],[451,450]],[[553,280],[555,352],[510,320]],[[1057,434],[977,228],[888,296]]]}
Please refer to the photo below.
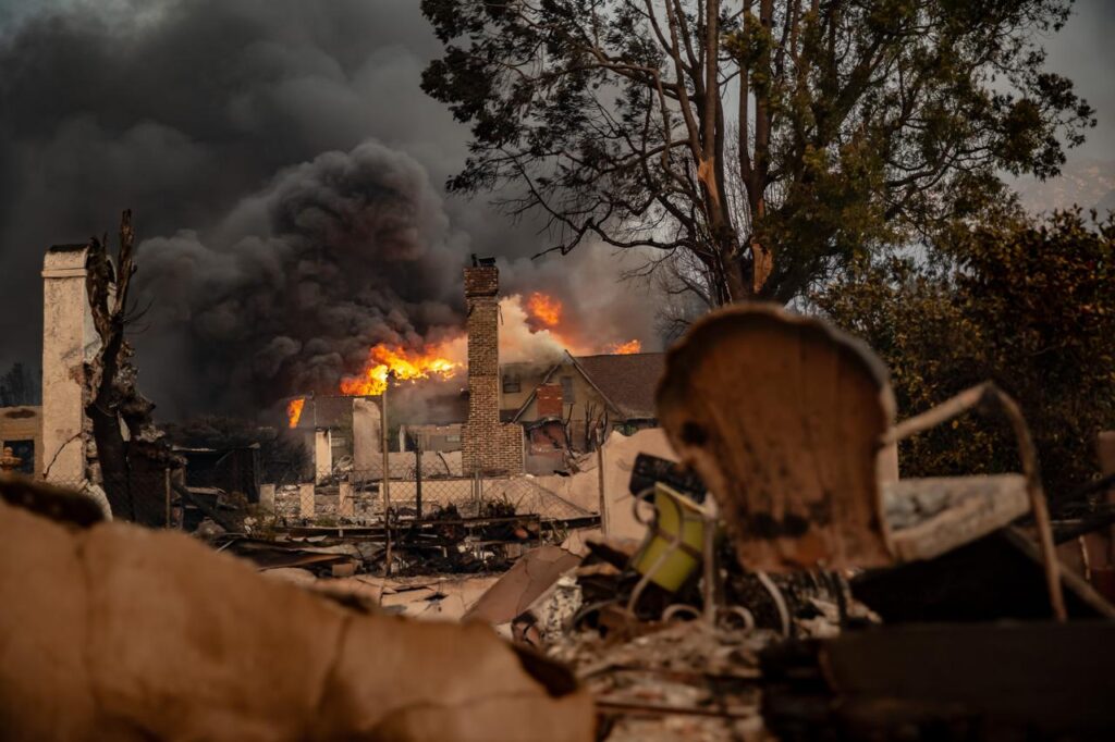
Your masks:
{"label": "rusted scallop-backed chair with curved metal armrest, tilted on the rubble", "polygon": [[[1017,403],[993,384],[895,424],[889,372],[865,343],[815,318],[747,305],[692,328],[670,352],[658,401],[670,442],[717,497],[749,568],[930,559],[1030,512],[1050,613],[1064,619],[1037,452]],[[1014,429],[1021,475],[880,476],[900,440],[982,407]]]}

